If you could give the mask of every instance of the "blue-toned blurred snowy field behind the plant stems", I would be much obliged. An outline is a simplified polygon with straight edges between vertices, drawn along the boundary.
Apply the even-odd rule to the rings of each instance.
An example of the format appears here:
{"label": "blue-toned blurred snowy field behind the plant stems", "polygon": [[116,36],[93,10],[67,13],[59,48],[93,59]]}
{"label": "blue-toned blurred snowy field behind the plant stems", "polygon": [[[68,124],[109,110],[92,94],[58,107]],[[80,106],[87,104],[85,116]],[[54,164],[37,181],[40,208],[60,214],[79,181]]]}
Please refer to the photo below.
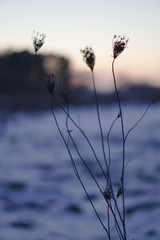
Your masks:
{"label": "blue-toned blurred snowy field behind the plant stems", "polygon": [[[124,105],[125,132],[147,104]],[[104,165],[95,106],[72,107],[70,114],[90,139]],[[118,114],[116,105],[101,106],[106,135]],[[65,114],[55,110],[67,140]],[[105,181],[82,134],[70,124],[77,147],[98,177]],[[107,206],[69,141],[80,175],[107,226]],[[111,176],[120,186],[121,128],[110,134]],[[151,106],[126,141],[125,196],[128,240],[160,239],[160,105]],[[121,198],[119,199],[121,204]],[[114,225],[112,226],[114,227]],[[104,240],[106,233],[79,184],[50,111],[0,113],[0,240]],[[119,239],[113,232],[113,239]]]}

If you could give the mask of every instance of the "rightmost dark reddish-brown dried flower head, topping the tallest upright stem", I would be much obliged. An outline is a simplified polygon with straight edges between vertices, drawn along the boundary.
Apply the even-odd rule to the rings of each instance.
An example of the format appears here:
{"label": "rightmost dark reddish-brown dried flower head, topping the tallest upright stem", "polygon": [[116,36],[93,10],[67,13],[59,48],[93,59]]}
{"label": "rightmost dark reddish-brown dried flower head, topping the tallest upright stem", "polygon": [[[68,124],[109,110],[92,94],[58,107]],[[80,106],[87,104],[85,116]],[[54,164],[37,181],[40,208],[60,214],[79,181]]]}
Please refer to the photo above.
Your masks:
{"label": "rightmost dark reddish-brown dried flower head, topping the tallest upright stem", "polygon": [[116,59],[126,48],[129,39],[114,35],[113,38],[113,58]]}

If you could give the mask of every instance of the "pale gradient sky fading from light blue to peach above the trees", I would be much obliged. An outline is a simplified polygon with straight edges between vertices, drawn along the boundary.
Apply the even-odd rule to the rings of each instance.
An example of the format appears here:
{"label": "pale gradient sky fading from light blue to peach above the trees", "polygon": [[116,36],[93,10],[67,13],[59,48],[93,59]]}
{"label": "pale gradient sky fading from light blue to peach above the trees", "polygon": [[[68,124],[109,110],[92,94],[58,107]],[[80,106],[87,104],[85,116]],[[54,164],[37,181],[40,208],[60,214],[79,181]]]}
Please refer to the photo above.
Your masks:
{"label": "pale gradient sky fading from light blue to peach above the trees", "polygon": [[111,81],[113,35],[125,35],[116,63],[121,81],[160,86],[160,0],[0,0],[0,29],[0,52],[32,51],[37,30],[47,35],[41,53],[64,55],[86,73],[79,50],[91,46],[101,86]]}

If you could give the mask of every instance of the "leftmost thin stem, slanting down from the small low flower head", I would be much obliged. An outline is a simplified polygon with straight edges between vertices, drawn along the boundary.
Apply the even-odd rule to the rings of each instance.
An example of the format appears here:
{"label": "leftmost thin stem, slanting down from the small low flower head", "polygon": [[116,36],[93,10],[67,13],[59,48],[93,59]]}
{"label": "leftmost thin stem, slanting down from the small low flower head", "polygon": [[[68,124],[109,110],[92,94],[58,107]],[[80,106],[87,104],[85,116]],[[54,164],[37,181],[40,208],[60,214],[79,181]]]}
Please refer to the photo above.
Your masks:
{"label": "leftmost thin stem, slanting down from the small low flower head", "polygon": [[[91,204],[91,206],[92,206],[92,208],[93,208],[93,210],[94,210],[94,212],[95,212],[95,214],[96,214],[96,216],[97,216],[97,218],[98,218],[98,220],[99,220],[99,222],[100,222],[100,224],[102,225],[102,227],[103,227],[104,230],[106,231],[108,237],[110,237],[107,228],[106,228],[105,225],[103,224],[103,222],[102,222],[102,220],[101,220],[101,217],[99,216],[99,214],[98,214],[98,212],[97,212],[97,210],[96,210],[96,208],[95,208],[95,206],[94,206],[94,204],[93,204],[93,202],[92,202],[92,200],[91,200],[91,197],[90,197],[90,195],[88,194],[88,191],[86,190],[86,187],[84,186],[84,183],[83,183],[83,181],[82,181],[82,179],[81,179],[81,177],[80,177],[80,175],[79,175],[79,172],[78,172],[77,166],[76,166],[76,164],[75,164],[75,161],[74,161],[74,159],[73,159],[73,157],[72,157],[72,154],[71,154],[71,152],[70,152],[70,149],[69,149],[69,147],[68,147],[68,144],[67,144],[67,142],[66,142],[66,140],[65,140],[65,138],[64,138],[64,136],[63,136],[63,133],[62,133],[60,127],[59,127],[57,118],[56,118],[55,113],[54,113],[54,110],[53,110],[53,98],[52,98],[52,96],[51,96],[51,112],[52,112],[53,118],[54,118],[54,120],[55,120],[56,127],[57,127],[57,129],[58,129],[58,131],[59,131],[59,133],[60,133],[60,136],[62,137],[62,140],[63,140],[63,142],[64,142],[64,144],[65,144],[65,146],[66,146],[66,149],[67,149],[67,151],[68,151],[68,154],[69,154],[69,156],[70,156],[71,163],[72,163],[72,166],[73,166],[75,175],[76,175],[76,177],[78,178],[78,180],[79,180],[79,182],[80,182],[80,184],[81,184],[81,186],[82,186],[82,188],[83,188],[83,190],[84,190],[84,192],[85,192],[85,194],[86,194],[86,196],[87,196],[87,198],[88,198],[88,200],[89,200],[89,202],[90,202],[90,204]],[[109,240],[111,240],[111,239],[109,238]]]}

